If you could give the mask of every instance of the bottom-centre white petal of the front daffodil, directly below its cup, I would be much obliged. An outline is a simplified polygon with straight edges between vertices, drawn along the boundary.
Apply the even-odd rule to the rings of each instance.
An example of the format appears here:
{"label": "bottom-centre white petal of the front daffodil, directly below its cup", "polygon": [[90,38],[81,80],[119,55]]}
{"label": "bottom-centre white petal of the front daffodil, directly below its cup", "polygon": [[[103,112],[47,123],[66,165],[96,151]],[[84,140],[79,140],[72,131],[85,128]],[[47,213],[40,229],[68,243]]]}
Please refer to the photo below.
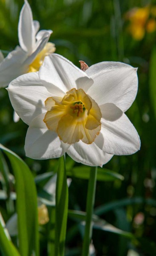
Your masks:
{"label": "bottom-centre white petal of the front daffodil, directly below its cup", "polygon": [[102,167],[113,157],[113,155],[103,152],[95,143],[88,145],[82,141],[72,144],[66,153],[76,162],[89,166]]}

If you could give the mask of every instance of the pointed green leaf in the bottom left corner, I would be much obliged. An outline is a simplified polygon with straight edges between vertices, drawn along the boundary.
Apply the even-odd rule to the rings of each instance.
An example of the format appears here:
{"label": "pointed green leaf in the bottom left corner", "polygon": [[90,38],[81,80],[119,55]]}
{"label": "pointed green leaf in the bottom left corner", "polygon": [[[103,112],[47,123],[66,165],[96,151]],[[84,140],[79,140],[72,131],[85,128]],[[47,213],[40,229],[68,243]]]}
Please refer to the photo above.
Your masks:
{"label": "pointed green leaf in the bottom left corner", "polygon": [[[7,231],[6,231],[7,232]],[[12,241],[6,236],[5,227],[0,219],[0,250],[5,256],[20,256]]]}

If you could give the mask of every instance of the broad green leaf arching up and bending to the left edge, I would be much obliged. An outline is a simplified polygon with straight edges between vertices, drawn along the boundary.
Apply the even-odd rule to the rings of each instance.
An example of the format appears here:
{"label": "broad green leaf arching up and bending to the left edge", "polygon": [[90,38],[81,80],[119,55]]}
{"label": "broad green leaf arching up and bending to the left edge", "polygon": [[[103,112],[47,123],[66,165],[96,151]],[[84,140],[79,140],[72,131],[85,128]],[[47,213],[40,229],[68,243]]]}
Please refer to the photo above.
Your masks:
{"label": "broad green leaf arching up and bending to the left edge", "polygon": [[20,157],[1,144],[0,148],[8,156],[15,177],[20,255],[28,256],[34,251],[38,256],[38,207],[33,176]]}

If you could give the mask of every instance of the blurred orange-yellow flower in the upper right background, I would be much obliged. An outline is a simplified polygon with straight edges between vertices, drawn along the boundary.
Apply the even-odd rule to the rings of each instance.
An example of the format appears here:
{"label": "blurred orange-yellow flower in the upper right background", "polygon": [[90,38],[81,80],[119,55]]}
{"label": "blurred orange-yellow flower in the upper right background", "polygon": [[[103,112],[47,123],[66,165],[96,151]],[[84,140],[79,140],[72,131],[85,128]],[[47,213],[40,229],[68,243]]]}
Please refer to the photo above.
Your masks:
{"label": "blurred orange-yellow flower in the upper right background", "polygon": [[144,38],[145,32],[151,33],[156,30],[156,6],[145,6],[143,8],[133,8],[126,14],[126,19],[130,20],[128,30],[132,37],[140,41]]}

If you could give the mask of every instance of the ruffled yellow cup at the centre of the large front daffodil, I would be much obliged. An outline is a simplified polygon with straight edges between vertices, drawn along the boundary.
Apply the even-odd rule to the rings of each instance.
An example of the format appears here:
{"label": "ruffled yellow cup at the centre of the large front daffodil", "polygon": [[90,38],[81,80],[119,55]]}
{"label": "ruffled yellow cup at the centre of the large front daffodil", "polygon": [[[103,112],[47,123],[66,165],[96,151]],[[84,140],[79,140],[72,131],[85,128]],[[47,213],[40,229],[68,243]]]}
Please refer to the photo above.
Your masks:
{"label": "ruffled yellow cup at the centre of the large front daffodil", "polygon": [[73,88],[63,97],[46,99],[43,121],[64,143],[82,140],[91,144],[101,130],[101,111],[98,104],[84,90]]}

